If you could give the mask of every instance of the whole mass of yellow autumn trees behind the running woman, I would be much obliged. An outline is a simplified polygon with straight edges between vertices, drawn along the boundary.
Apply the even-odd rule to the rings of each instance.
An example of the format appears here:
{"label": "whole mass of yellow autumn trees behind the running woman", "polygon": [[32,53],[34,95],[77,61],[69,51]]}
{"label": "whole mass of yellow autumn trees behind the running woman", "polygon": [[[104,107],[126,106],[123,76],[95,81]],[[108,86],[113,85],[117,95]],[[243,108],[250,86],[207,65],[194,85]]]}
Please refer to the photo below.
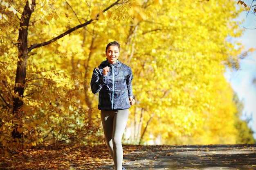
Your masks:
{"label": "whole mass of yellow autumn trees behind the running woman", "polygon": [[132,68],[124,140],[236,143],[225,67],[238,65],[236,1],[9,0],[0,3],[0,142],[103,141],[92,70],[108,42]]}

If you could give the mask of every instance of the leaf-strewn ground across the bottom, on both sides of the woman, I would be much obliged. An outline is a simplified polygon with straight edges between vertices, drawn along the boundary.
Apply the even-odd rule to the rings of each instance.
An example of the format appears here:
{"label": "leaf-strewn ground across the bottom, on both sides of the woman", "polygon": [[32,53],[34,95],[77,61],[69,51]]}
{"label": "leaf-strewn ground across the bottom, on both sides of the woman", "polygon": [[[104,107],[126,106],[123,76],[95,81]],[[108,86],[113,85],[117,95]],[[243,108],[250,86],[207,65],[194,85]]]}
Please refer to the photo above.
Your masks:
{"label": "leaf-strewn ground across the bottom, on both sides of the woman", "polygon": [[[124,145],[127,170],[256,170],[256,145]],[[1,152],[0,152],[1,153]],[[0,170],[114,170],[106,145],[2,152]]]}

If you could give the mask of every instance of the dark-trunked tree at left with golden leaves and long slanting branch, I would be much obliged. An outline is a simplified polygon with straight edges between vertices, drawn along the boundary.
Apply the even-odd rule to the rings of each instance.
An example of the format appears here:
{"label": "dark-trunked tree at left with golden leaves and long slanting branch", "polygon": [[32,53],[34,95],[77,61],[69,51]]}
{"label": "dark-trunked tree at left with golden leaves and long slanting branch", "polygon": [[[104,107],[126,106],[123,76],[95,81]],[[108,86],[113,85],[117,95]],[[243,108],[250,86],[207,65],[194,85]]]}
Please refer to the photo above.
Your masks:
{"label": "dark-trunked tree at left with golden leaves and long slanting branch", "polygon": [[[66,79],[66,75],[58,72],[55,67],[49,68],[52,70],[52,73],[54,73],[54,75],[47,75],[44,72],[47,72],[49,70],[43,69],[43,68],[38,68],[38,67],[36,67],[36,65],[29,65],[29,61],[30,62],[33,61],[33,59],[29,60],[29,56],[31,55],[31,53],[32,53],[32,55],[35,55],[37,52],[42,52],[40,50],[35,51],[35,49],[38,47],[43,47],[45,45],[53,44],[56,40],[59,40],[60,38],[67,36],[68,34],[72,33],[76,29],[90,25],[91,23],[99,20],[99,18],[103,17],[104,12],[108,11],[109,9],[111,9],[114,6],[117,6],[117,8],[120,5],[124,6],[126,3],[128,3],[128,1],[121,2],[120,0],[117,0],[117,1],[113,2],[112,4],[106,5],[105,9],[99,9],[99,6],[101,6],[101,4],[102,4],[101,1],[99,1],[99,2],[95,1],[93,4],[86,4],[89,6],[89,11],[88,11],[88,13],[85,13],[86,18],[88,18],[88,19],[85,19],[85,22],[81,23],[79,20],[79,22],[80,22],[79,25],[72,27],[70,29],[67,29],[66,31],[64,31],[64,33],[59,34],[58,36],[55,36],[54,38],[48,37],[48,39],[50,38],[50,40],[47,40],[47,41],[41,42],[41,43],[38,43],[38,40],[46,39],[43,34],[40,34],[40,32],[41,33],[43,32],[40,30],[43,27],[41,27],[41,28],[38,27],[38,28],[36,28],[36,30],[32,30],[32,31],[29,31],[29,27],[35,28],[34,25],[42,26],[44,24],[47,24],[47,21],[52,20],[52,18],[58,19],[58,17],[59,17],[58,9],[56,9],[54,7],[54,5],[58,6],[58,5],[63,5],[63,4],[54,3],[54,1],[52,1],[52,2],[39,1],[40,3],[36,4],[35,0],[28,0],[28,1],[26,1],[26,4],[22,4],[22,1],[19,1],[19,2],[20,3],[16,3],[14,1],[10,1],[10,2],[3,1],[2,2],[3,9],[5,9],[5,12],[6,11],[7,12],[5,13],[3,11],[3,13],[1,13],[1,17],[2,17],[1,22],[2,22],[2,26],[3,26],[2,28],[5,29],[7,35],[9,33],[8,28],[10,27],[10,26],[6,25],[8,22],[10,22],[10,23],[16,22],[17,23],[17,19],[18,19],[20,26],[14,27],[14,30],[16,28],[18,28],[17,31],[19,31],[19,36],[18,36],[17,43],[15,43],[15,45],[17,45],[17,47],[18,47],[18,51],[17,51],[18,63],[17,63],[16,78],[15,78],[15,83],[14,83],[13,93],[12,93],[13,98],[7,97],[7,99],[9,100],[9,101],[7,101],[7,99],[5,98],[6,96],[2,96],[2,100],[4,101],[6,106],[8,106],[6,112],[8,112],[9,109],[12,109],[13,116],[11,116],[11,117],[6,116],[5,117],[6,119],[3,120],[3,124],[1,124],[1,128],[4,128],[4,130],[2,132],[8,131],[8,129],[5,129],[8,126],[2,127],[2,125],[4,125],[5,123],[9,123],[10,120],[13,121],[13,124],[15,124],[15,127],[11,128],[11,129],[13,129],[12,133],[11,133],[12,138],[16,140],[15,141],[16,144],[21,142],[21,143],[23,143],[23,147],[27,147],[27,143],[24,143],[24,141],[23,141],[23,139],[24,139],[23,135],[25,135],[28,138],[30,133],[33,133],[33,132],[36,133],[36,136],[38,136],[38,139],[36,139],[34,141],[33,140],[30,141],[29,146],[31,146],[31,145],[36,145],[36,143],[42,142],[43,139],[46,138],[54,130],[57,132],[57,134],[61,133],[61,131],[65,131],[64,128],[67,128],[67,127],[62,127],[62,126],[55,127],[52,125],[52,123],[49,123],[49,121],[47,121],[48,118],[52,119],[52,116],[58,117],[59,114],[61,114],[62,111],[64,110],[63,107],[65,107],[65,109],[66,108],[70,109],[69,117],[64,117],[62,120],[56,119],[57,122],[55,122],[55,123],[57,123],[57,124],[59,124],[59,121],[65,121],[64,119],[74,119],[74,113],[84,112],[83,110],[79,110],[80,106],[79,106],[79,103],[77,102],[77,99],[75,96],[73,96],[74,99],[71,98],[71,103],[73,102],[72,104],[70,103],[70,101],[68,101],[69,103],[67,103],[67,101],[65,101],[64,97],[66,97],[68,95],[68,93],[64,92],[65,89],[60,88],[59,92],[54,93],[54,94],[51,94],[52,90],[54,90],[54,88],[43,87],[44,90],[43,91],[40,90],[40,88],[43,86],[41,84],[41,82],[48,83],[49,86],[54,86],[54,85],[56,85],[56,82],[53,81],[54,78],[59,78],[62,80],[67,80],[67,79]],[[83,5],[85,5],[85,4],[83,4]],[[24,10],[23,10],[23,13],[20,14],[18,12],[18,9],[21,9],[22,6],[24,6]],[[64,3],[64,6],[70,7],[72,9],[72,7],[70,6],[70,4],[68,2]],[[121,7],[120,7],[120,9],[121,9]],[[72,11],[73,11],[73,9],[72,9]],[[17,18],[12,18],[12,17],[7,18],[7,16],[9,16],[10,13],[14,13],[14,14],[19,13],[19,15],[16,15]],[[33,13],[35,13],[34,16],[33,16]],[[73,13],[73,14],[76,15],[76,13]],[[67,13],[66,13],[66,15],[67,15]],[[45,21],[42,20],[44,18],[46,19]],[[33,34],[35,34],[36,36],[34,36]],[[4,40],[6,40],[6,38],[4,38]],[[13,40],[13,37],[11,37],[11,40]],[[28,40],[30,40],[30,41],[28,41]],[[8,51],[7,48],[2,48],[2,50],[4,52]],[[10,53],[14,54],[11,51],[10,51]],[[2,67],[4,67],[4,62],[2,63]],[[27,69],[32,69],[33,71],[36,71],[36,73],[30,72],[32,74],[27,74]],[[9,72],[7,72],[5,75],[8,76]],[[73,76],[75,78],[75,75],[73,75]],[[2,80],[2,83],[3,83],[2,85],[3,85],[3,87],[7,88],[6,92],[10,92],[9,91],[10,89],[8,90],[9,87],[7,87],[7,83],[10,83],[10,80],[6,81],[6,79],[7,79],[7,77],[4,76],[4,78]],[[37,86],[37,87],[32,91],[27,91],[26,87],[29,85],[28,82],[32,82],[30,85]],[[33,84],[33,83],[38,83],[38,85]],[[67,85],[67,84],[65,84],[65,85]],[[70,89],[71,90],[79,90],[79,87],[76,87],[76,85],[71,85]],[[34,97],[36,97],[33,95],[34,93],[39,93],[41,95],[45,95],[45,98],[47,98],[47,100],[44,100],[43,98],[34,98]],[[57,95],[58,97],[55,97],[54,95]],[[72,95],[72,94],[69,94],[69,95]],[[70,97],[70,96],[68,96],[68,97]],[[49,99],[49,98],[52,98],[52,99],[55,98],[56,100],[52,101],[52,99]],[[73,101],[72,101],[72,99],[73,99]],[[74,102],[74,101],[76,101],[76,102]],[[26,103],[26,105],[24,105],[24,103]],[[65,105],[65,106],[63,106],[63,105]],[[6,106],[4,106],[4,107],[6,107]],[[33,107],[35,110],[33,109]],[[34,111],[32,111],[32,113],[29,114],[29,112],[31,110],[34,110]],[[91,113],[91,112],[93,112],[92,110],[93,110],[93,108],[91,108],[91,110],[89,112],[85,112],[85,113]],[[52,112],[54,114],[49,115],[49,117],[48,117],[46,111]],[[43,115],[43,117],[42,117],[42,115]],[[90,118],[89,121],[86,121],[87,120],[86,118],[80,118],[81,120],[76,120],[77,123],[72,124],[72,126],[78,126],[77,124],[86,125],[87,122],[89,123],[88,125],[91,125],[92,123],[90,123],[90,121],[92,121],[92,115],[89,118]],[[29,119],[34,119],[34,120],[29,121]],[[41,127],[40,130],[37,130],[38,124],[42,124],[42,123],[46,123],[48,125],[48,126],[45,126],[45,127],[47,127],[47,129],[44,129]],[[94,127],[94,125],[91,125],[91,126]],[[92,132],[94,132],[93,127],[92,128],[89,127],[87,131],[90,132],[90,130],[92,130]],[[99,127],[99,125],[98,126],[96,125],[95,127]],[[58,130],[56,130],[56,128]],[[78,127],[76,127],[76,128],[78,128]],[[95,128],[95,129],[97,129],[97,128]],[[38,132],[40,132],[42,130],[48,131],[43,136],[43,138],[42,138],[42,136],[40,137],[40,135],[38,134]],[[76,130],[78,131],[78,129],[76,129]],[[24,134],[23,132],[25,132],[25,131],[26,131],[26,133]],[[56,134],[56,132],[55,132],[55,134]],[[83,133],[87,133],[87,132],[83,132]],[[69,134],[69,135],[67,135],[67,134]],[[70,136],[72,134],[72,132],[71,132],[71,134],[70,133],[67,133],[67,134],[66,134],[67,136],[64,137],[64,140],[74,138],[74,136]],[[52,134],[52,135],[54,136],[54,134]],[[9,138],[8,134],[5,133],[1,136],[1,141],[2,141],[3,145],[6,145],[7,141],[13,141],[13,140],[11,140]],[[11,142],[11,145],[12,144],[13,143]]]}

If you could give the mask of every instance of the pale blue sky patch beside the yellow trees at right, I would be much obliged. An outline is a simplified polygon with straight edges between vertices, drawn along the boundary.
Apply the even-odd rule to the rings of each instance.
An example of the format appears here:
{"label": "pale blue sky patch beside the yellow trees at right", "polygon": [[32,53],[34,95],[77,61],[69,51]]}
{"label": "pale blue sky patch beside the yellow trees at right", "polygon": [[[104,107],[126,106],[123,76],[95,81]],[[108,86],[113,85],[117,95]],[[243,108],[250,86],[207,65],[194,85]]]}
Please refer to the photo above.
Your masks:
{"label": "pale blue sky patch beside the yellow trees at right", "polygon": [[[249,1],[252,2],[252,0],[247,1],[245,1],[247,4],[249,4]],[[254,14],[247,15],[244,12],[239,18],[244,19],[240,27],[245,27],[246,29],[243,36],[238,40],[245,45],[245,49],[256,49],[256,16]],[[241,119],[251,118],[248,125],[254,131],[254,138],[256,139],[256,51],[240,60],[239,70],[228,72],[228,74],[228,81],[231,83],[240,101],[244,103]]]}

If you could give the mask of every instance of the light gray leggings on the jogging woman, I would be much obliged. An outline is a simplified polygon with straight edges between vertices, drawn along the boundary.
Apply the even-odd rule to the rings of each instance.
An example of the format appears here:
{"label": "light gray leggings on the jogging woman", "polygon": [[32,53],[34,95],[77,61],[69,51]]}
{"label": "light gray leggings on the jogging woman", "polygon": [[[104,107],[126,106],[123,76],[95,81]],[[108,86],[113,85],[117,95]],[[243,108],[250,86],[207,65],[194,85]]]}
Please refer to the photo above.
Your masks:
{"label": "light gray leggings on the jogging woman", "polygon": [[128,109],[101,110],[103,131],[108,145],[108,150],[114,160],[115,170],[122,170],[122,137],[128,121],[128,114]]}

